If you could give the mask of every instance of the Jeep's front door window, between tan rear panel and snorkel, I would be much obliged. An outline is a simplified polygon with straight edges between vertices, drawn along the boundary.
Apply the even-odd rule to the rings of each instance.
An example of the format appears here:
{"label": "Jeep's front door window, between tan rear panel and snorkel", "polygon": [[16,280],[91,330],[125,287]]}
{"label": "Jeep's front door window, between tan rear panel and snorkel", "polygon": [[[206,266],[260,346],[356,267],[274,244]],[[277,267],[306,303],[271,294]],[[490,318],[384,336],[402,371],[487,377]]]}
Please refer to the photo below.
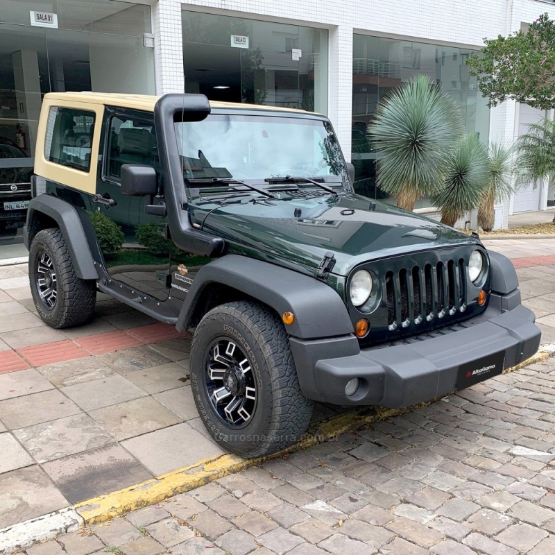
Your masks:
{"label": "Jeep's front door window, between tan rear panel and snorkel", "polygon": [[112,116],[108,124],[108,150],[104,175],[119,181],[123,164],[146,164],[158,169],[154,122]]}

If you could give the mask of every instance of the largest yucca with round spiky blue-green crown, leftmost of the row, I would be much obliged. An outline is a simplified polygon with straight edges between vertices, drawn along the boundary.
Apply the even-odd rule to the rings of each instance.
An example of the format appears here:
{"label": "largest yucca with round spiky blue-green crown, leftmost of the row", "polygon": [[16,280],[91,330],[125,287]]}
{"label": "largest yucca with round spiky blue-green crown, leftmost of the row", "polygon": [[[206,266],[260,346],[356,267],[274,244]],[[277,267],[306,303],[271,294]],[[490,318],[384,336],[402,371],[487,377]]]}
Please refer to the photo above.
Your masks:
{"label": "largest yucca with round spiky blue-green crown, leftmost of the row", "polygon": [[445,163],[463,132],[454,100],[426,75],[394,89],[377,107],[368,131],[377,141],[377,185],[413,210],[443,187]]}

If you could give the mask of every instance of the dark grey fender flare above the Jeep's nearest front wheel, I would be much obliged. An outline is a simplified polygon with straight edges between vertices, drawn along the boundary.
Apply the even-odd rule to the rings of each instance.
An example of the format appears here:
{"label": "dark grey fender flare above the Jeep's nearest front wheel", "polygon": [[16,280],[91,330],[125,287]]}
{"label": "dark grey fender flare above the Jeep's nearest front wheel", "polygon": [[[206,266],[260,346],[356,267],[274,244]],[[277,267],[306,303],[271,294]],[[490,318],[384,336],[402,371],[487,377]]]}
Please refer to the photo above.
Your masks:
{"label": "dark grey fender flare above the Jeep's nearest front wheel", "polygon": [[198,271],[182,305],[176,324],[187,330],[196,302],[211,284],[232,287],[273,308],[281,317],[295,315],[286,325],[287,334],[300,339],[341,336],[353,333],[347,308],[329,285],[282,266],[240,255],[225,255]]}

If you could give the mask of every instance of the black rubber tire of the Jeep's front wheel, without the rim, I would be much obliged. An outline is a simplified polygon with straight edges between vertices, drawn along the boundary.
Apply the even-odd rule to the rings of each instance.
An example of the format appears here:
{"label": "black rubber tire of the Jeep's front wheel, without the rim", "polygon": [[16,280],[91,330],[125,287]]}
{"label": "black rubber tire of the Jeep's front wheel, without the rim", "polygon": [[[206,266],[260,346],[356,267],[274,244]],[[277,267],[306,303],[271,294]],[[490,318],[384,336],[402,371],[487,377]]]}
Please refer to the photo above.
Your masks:
{"label": "black rubber tire of the Jeep's front wheel, without the rim", "polygon": [[[255,409],[239,429],[219,416],[207,386],[211,345],[228,339],[244,350],[256,380]],[[200,418],[231,452],[249,459],[273,453],[296,443],[309,425],[312,403],[300,391],[287,333],[264,305],[230,302],[205,314],[194,334],[190,371]]]}

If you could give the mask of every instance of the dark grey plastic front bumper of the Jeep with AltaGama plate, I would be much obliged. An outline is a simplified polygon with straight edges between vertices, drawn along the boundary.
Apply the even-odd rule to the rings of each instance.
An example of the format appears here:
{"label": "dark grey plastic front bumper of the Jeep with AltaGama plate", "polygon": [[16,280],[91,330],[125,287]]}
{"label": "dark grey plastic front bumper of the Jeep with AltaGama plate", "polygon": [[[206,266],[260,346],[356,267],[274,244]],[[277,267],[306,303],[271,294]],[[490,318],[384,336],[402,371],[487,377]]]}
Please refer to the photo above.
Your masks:
{"label": "dark grey plastic front bumper of the Jeep with AltaGama plate", "polygon": [[[473,361],[477,370],[483,370],[493,357],[499,361],[499,373],[501,366],[509,368],[531,357],[541,337],[535,319],[533,312],[520,304],[516,289],[505,296],[492,293],[488,308],[477,318],[391,345],[361,350],[354,335],[316,341],[289,339],[307,398],[399,408],[470,385],[461,379],[461,370],[465,375]],[[486,371],[473,382],[490,375]],[[355,377],[360,380],[359,388],[353,395],[345,395],[345,385]]]}

